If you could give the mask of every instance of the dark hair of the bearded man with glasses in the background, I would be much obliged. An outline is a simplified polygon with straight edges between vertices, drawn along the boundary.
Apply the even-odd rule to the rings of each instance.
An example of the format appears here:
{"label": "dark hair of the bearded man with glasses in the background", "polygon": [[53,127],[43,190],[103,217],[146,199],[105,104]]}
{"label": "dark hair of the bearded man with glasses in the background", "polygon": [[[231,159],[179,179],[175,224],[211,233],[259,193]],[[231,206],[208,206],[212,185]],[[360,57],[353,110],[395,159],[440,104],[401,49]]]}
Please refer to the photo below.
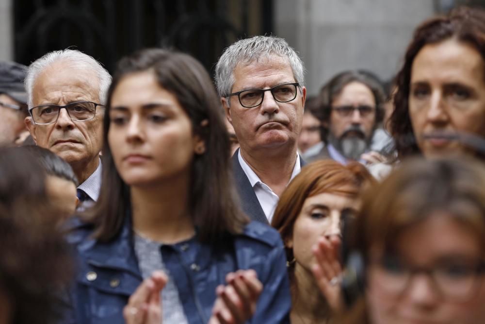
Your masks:
{"label": "dark hair of the bearded man with glasses in the background", "polygon": [[328,139],[328,125],[330,123],[330,114],[332,113],[332,102],[337,97],[342,89],[352,82],[359,82],[371,89],[375,100],[375,123],[374,128],[377,127],[384,119],[383,104],[386,102],[384,94],[384,87],[381,81],[372,72],[365,70],[351,70],[340,72],[335,75],[330,81],[320,89],[317,100],[319,109],[317,118],[323,122],[321,136],[322,140],[327,143]]}

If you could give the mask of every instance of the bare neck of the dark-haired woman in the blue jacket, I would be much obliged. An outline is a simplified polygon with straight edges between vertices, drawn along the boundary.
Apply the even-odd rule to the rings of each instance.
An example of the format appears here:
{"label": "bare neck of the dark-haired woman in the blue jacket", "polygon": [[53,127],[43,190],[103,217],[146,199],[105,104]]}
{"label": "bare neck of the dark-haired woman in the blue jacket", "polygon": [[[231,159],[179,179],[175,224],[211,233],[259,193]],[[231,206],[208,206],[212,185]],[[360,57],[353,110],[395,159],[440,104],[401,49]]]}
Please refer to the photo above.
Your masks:
{"label": "bare neck of the dark-haired woman in the blue jacket", "polygon": [[188,212],[188,177],[155,186],[130,188],[133,229],[166,244],[190,239],[194,224]]}

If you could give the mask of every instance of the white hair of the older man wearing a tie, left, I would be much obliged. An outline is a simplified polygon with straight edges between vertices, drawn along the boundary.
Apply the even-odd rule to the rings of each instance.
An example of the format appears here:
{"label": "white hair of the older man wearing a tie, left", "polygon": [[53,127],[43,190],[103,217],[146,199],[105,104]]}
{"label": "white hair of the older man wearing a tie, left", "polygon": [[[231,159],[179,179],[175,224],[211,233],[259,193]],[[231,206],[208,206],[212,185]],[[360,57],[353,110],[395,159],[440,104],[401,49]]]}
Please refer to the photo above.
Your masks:
{"label": "white hair of the older man wearing a tie, left", "polygon": [[92,70],[96,73],[99,82],[99,103],[106,103],[106,94],[111,85],[111,75],[103,66],[92,56],[77,50],[51,51],[41,58],[32,62],[27,70],[25,77],[25,90],[27,91],[28,104],[32,108],[32,90],[35,80],[50,65],[55,62],[66,61],[71,63],[72,68],[82,68]]}

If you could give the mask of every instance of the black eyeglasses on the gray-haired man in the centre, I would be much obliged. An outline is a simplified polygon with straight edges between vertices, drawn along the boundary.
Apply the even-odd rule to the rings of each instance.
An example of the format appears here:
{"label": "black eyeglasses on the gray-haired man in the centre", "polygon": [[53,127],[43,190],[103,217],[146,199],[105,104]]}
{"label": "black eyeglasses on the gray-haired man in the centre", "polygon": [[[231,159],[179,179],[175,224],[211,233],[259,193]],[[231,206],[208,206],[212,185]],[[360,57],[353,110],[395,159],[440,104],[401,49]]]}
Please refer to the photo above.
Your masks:
{"label": "black eyeglasses on the gray-haired man in the centre", "polygon": [[290,102],[296,98],[298,82],[276,85],[270,89],[248,89],[230,93],[227,96],[238,96],[239,102],[245,108],[259,106],[263,102],[264,93],[271,91],[273,98],[277,102]]}

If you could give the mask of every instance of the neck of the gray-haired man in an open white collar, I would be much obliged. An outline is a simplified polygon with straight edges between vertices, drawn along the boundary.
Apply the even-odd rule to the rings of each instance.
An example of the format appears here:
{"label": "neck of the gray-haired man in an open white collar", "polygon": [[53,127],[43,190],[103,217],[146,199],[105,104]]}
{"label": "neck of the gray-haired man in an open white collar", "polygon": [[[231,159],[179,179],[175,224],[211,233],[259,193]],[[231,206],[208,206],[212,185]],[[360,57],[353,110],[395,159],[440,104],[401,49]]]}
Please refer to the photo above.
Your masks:
{"label": "neck of the gray-haired man in an open white collar", "polygon": [[272,151],[253,152],[241,148],[241,155],[259,179],[280,196],[291,180],[296,163],[296,145]]}

